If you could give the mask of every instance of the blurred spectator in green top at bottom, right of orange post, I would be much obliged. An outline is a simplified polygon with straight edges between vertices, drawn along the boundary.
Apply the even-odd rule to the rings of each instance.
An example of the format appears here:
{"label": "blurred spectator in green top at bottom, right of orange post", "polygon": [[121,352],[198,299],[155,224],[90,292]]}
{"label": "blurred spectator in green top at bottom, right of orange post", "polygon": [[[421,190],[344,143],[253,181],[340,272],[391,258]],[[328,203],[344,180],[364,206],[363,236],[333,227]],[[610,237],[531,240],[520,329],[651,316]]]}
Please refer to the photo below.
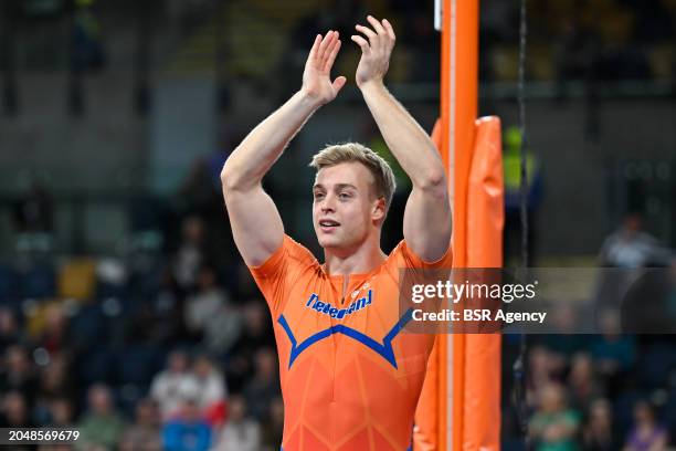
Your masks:
{"label": "blurred spectator in green top at bottom, right of orange post", "polygon": [[575,436],[580,419],[566,403],[564,388],[559,384],[545,386],[539,394],[539,406],[530,420],[530,432],[538,451],[578,450]]}

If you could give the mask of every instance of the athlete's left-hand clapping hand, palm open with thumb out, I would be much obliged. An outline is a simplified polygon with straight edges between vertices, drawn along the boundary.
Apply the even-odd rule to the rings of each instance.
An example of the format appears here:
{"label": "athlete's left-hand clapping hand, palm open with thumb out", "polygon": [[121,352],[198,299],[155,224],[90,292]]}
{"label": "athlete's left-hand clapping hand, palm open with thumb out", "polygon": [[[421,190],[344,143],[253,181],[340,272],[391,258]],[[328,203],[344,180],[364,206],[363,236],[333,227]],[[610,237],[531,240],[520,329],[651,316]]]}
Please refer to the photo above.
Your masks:
{"label": "athlete's left-hand clapping hand, palm open with thumb out", "polygon": [[320,105],[336,98],[340,88],[345,86],[345,76],[337,77],[332,83],[330,78],[338,50],[340,50],[340,40],[337,31],[329,31],[324,38],[317,34],[305,63],[302,91]]}

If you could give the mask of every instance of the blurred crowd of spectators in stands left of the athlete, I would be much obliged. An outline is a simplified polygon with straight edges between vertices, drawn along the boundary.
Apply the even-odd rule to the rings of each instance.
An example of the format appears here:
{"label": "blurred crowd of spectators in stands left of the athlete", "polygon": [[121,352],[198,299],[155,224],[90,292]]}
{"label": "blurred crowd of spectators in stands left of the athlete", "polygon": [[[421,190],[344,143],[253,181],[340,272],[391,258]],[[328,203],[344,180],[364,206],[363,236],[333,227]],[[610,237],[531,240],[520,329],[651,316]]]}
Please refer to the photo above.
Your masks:
{"label": "blurred crowd of spectators in stands left of the athlete", "polygon": [[176,251],[142,269],[95,263],[91,297],[60,296],[83,274],[55,262],[2,269],[17,286],[0,306],[1,427],[74,426],[93,450],[278,449],[265,302],[245,266],[207,260],[200,217],[182,226]]}

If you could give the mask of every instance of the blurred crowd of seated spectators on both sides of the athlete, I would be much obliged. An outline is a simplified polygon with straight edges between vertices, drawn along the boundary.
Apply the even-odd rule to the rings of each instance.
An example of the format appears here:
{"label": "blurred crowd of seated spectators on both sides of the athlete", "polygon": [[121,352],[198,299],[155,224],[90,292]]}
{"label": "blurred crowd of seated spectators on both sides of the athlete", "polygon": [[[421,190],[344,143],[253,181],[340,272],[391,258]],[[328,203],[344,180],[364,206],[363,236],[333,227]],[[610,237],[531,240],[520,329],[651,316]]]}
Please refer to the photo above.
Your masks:
{"label": "blurred crowd of seated spectators on both sides of the athlete", "polygon": [[[99,259],[80,298],[64,296],[83,282],[67,264],[0,269],[14,271],[0,283],[10,294],[0,306],[0,427],[75,426],[77,447],[92,450],[277,449],[284,406],[271,317],[243,263],[212,260],[210,230],[226,227],[224,217],[186,214],[167,255]],[[664,253],[637,227],[627,217],[602,264],[638,268]],[[504,340],[511,387],[518,342]],[[670,336],[621,334],[610,317],[599,335],[532,336],[527,357],[536,449],[659,450],[676,437]],[[515,401],[504,392],[508,450],[521,449]]]}

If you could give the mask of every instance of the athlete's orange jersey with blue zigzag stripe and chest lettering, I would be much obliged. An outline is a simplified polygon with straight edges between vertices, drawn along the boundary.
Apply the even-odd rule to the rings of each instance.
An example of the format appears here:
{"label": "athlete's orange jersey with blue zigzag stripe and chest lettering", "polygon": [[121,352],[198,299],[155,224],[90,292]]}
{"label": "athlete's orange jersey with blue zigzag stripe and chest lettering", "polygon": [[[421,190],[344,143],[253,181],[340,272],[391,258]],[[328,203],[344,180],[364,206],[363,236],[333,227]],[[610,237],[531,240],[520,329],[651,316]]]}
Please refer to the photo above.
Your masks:
{"label": "athlete's orange jersey with blue zigzag stripe and chest lettering", "polygon": [[284,244],[252,274],[270,306],[285,406],[285,451],[406,450],[434,335],[402,333],[399,270],[427,264],[402,241],[373,271],[329,275]]}

